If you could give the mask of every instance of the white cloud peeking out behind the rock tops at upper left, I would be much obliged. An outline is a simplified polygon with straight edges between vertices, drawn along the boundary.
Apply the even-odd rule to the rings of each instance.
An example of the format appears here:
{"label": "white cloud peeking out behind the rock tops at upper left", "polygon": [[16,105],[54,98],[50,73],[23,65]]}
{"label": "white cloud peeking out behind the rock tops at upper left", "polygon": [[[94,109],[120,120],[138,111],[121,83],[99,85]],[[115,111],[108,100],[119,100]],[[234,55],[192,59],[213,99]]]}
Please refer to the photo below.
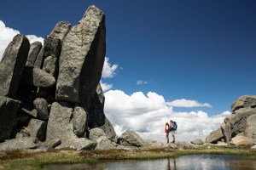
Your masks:
{"label": "white cloud peeking out behind the rock tops at upper left", "polygon": [[[3,21],[0,20],[0,60],[2,59],[4,50],[5,48],[7,48],[9,42],[11,42],[15,35],[19,33],[20,31],[5,26]],[[26,35],[26,37],[29,39],[31,43],[35,41],[39,41],[42,43],[44,42],[43,37],[37,37],[35,35]]]}

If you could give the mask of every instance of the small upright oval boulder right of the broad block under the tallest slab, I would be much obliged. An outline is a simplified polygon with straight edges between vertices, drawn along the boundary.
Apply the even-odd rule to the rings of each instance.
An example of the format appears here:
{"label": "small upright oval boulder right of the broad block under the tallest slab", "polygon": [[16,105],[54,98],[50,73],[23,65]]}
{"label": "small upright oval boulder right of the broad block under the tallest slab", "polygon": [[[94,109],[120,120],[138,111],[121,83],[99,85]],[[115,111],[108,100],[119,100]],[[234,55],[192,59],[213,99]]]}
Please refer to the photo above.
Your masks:
{"label": "small upright oval boulder right of the broad block under the tallest slab", "polygon": [[87,111],[76,105],[73,109],[73,132],[78,136],[84,136],[87,130]]}

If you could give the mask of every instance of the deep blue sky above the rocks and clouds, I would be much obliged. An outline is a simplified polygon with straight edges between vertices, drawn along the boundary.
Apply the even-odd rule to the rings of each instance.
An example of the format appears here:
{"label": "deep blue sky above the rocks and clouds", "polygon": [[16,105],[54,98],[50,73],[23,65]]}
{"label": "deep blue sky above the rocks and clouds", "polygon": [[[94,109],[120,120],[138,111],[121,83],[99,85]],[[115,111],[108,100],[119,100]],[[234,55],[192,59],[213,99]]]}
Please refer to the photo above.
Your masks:
{"label": "deep blue sky above the rocks and clouds", "polygon": [[212,107],[171,110],[203,111],[211,118],[230,111],[241,95],[256,94],[253,0],[4,1],[0,20],[23,34],[45,37],[58,21],[75,25],[91,4],[106,14],[106,56],[110,67],[118,65],[114,77],[102,79],[113,86],[107,96],[119,90],[148,99],[154,92],[164,102],[195,100]]}

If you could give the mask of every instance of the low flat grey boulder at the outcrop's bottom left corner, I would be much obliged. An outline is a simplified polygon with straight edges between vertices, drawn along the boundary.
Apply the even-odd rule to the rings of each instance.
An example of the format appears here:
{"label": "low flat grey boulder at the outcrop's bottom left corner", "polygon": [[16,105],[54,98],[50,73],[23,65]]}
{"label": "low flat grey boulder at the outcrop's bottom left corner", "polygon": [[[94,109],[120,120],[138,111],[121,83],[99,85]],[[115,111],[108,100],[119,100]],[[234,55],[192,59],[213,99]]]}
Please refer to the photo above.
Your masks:
{"label": "low flat grey boulder at the outcrop's bottom left corner", "polygon": [[18,139],[10,139],[0,144],[0,151],[3,150],[27,150],[37,148],[37,139],[31,137],[23,137]]}

